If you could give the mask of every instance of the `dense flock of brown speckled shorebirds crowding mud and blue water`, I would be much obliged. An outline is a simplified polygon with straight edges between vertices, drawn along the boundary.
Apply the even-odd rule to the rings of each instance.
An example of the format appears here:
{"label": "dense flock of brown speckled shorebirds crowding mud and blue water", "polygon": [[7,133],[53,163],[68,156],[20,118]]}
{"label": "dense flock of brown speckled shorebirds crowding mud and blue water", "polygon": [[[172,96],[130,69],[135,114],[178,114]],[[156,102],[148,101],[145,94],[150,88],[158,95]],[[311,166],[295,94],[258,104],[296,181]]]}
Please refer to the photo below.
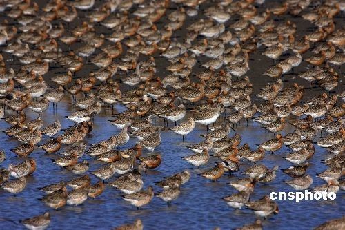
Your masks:
{"label": "dense flock of brown speckled shorebirds crowding mud and blue water", "polygon": [[[1,1],[1,15],[8,20],[0,24],[0,116],[1,122],[11,125],[3,132],[19,143],[11,153],[0,152],[1,162],[10,154],[29,157],[39,148],[59,154],[54,164],[77,176],[39,188],[41,201],[51,209],[101,197],[104,189],[121,191],[124,200],[138,209],[154,196],[170,205],[194,172],[176,172],[144,189],[143,173],[159,170],[164,160],[164,155],[150,152],[164,142],[161,132],[176,133],[185,141],[198,124],[205,126],[204,140],[188,146],[190,154],[182,159],[198,168],[210,157],[217,159],[214,167],[199,174],[205,180],[243,173],[229,184],[238,192],[222,198],[234,209],[248,207],[265,219],[279,212],[277,202],[268,195],[259,200],[250,200],[250,195],[256,184],[275,180],[279,166],[270,169],[260,162],[283,146],[290,149],[284,156],[291,163],[283,169],[291,177],[286,184],[298,191],[312,186],[308,160],[317,144],[332,157],[323,162],[328,169],[317,174],[325,183],[312,190],[344,190],[345,90],[339,79],[345,61],[345,30],[337,28],[333,19],[344,14],[345,3],[286,0],[265,4],[260,0],[107,0],[100,4],[50,0],[39,7],[30,0]],[[81,14],[84,21],[79,19]],[[313,31],[297,37],[298,25],[273,20],[286,14],[313,23]],[[197,15],[202,17],[197,19]],[[228,23],[230,18],[236,18],[235,22]],[[75,20],[79,23],[70,28]],[[164,25],[158,23],[162,20]],[[193,23],[186,26],[189,21]],[[108,32],[101,34],[99,28]],[[186,33],[177,35],[181,28]],[[78,44],[77,48],[72,50],[72,44]],[[257,50],[264,50],[260,55],[272,59],[272,65],[261,76],[247,76],[250,55]],[[158,70],[161,59],[169,63],[167,74]],[[14,61],[19,61],[20,68],[11,68]],[[294,73],[302,61],[310,68]],[[78,76],[86,64],[95,70]],[[47,77],[57,66],[65,71]],[[308,97],[308,88],[297,83],[285,86],[287,73],[311,82],[311,88],[320,89],[319,95]],[[253,95],[250,79],[255,77],[273,81]],[[73,105],[74,112],[66,119],[75,125],[61,128],[59,120],[45,124],[41,114],[47,109],[58,111],[62,99]],[[108,122],[121,131],[92,146],[83,143],[92,132],[94,117],[119,105],[126,110],[110,116]],[[28,110],[38,118],[26,121]],[[164,126],[156,125],[158,119],[164,119]],[[255,143],[253,149],[241,143],[241,135],[230,135],[241,121],[248,124],[248,119],[274,137]],[[295,131],[280,134],[288,124]],[[315,142],[318,135],[322,137]],[[137,138],[137,144],[119,148],[130,137]],[[63,146],[68,148],[61,152]],[[34,158],[26,159],[1,169],[3,190],[20,194],[26,189],[26,177],[41,167]],[[95,161],[105,164],[88,173]],[[251,165],[245,170],[244,161]],[[90,176],[99,182],[91,184]],[[46,229],[50,213],[21,222],[28,229]],[[143,229],[143,222],[138,219],[116,229]],[[342,228],[344,217],[317,229]],[[241,229],[262,229],[262,220]]]}

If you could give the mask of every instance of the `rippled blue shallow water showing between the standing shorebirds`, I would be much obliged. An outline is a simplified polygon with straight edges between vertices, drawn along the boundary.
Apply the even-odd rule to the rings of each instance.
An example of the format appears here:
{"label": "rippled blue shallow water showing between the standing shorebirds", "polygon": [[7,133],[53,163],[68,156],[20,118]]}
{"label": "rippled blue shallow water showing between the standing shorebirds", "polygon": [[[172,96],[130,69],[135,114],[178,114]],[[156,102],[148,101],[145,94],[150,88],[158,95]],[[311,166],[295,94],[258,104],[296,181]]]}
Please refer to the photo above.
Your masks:
{"label": "rippled blue shallow water showing between the standing shorebirds", "polygon": [[[43,1],[39,3],[41,6],[44,5]],[[170,11],[172,10],[168,10],[168,12]],[[188,18],[186,25],[192,23],[193,20],[198,17],[194,17],[193,19]],[[302,21],[301,18],[292,18],[288,15],[282,18],[290,19],[297,23],[298,36],[302,36],[306,32],[311,32],[315,29],[311,29],[311,24]],[[3,17],[0,17],[0,19],[3,19]],[[82,19],[79,19],[79,21],[81,20]],[[231,19],[230,22],[234,20],[235,19]],[[341,22],[344,21],[344,19],[336,18],[335,21]],[[161,24],[163,23],[159,23],[160,26]],[[339,24],[341,23],[337,23],[337,26],[339,26]],[[106,32],[101,26],[99,26],[99,28],[97,27],[97,30]],[[179,39],[179,36],[184,35],[184,31],[185,30],[179,30],[179,32],[177,32],[177,39]],[[108,44],[108,42],[106,44]],[[61,45],[61,42],[59,42],[59,45]],[[71,49],[77,46],[79,46],[79,44],[74,44]],[[63,46],[63,44],[61,47],[63,47],[63,50],[66,50],[66,46]],[[272,64],[270,59],[260,55],[262,50],[263,47],[259,48],[254,55],[250,55],[250,70],[247,75],[255,86],[252,97],[259,91],[259,88],[262,88],[267,82],[271,81],[269,77],[265,77],[261,74]],[[6,54],[3,56],[8,58]],[[306,57],[308,54],[303,56]],[[157,77],[163,78],[168,74],[166,70],[164,70],[167,62],[157,55],[155,55],[155,57],[157,57],[156,63],[159,65]],[[200,65],[201,63],[196,65],[193,73],[199,71],[198,66]],[[10,62],[9,66],[16,70],[19,68],[19,64],[15,61]],[[299,73],[302,70],[306,70],[306,67],[306,63],[303,62],[295,71]],[[92,69],[96,69],[96,67],[92,64],[88,64],[82,71],[77,73],[75,77],[85,76]],[[51,83],[49,77],[61,70],[62,68],[51,69],[44,77],[48,83]],[[342,68],[342,71],[344,72],[344,68]],[[339,71],[339,73],[340,72],[341,71]],[[121,76],[117,74],[116,77],[118,79]],[[297,75],[294,74],[284,75],[283,79],[286,86],[289,86],[293,82],[297,82],[306,87],[309,86],[308,82],[299,79]],[[343,76],[340,77],[336,91],[344,90],[343,79]],[[319,88],[306,90],[304,101],[319,93]],[[79,97],[81,97],[81,95],[79,95]],[[72,126],[73,123],[65,119],[65,116],[70,115],[70,113],[76,111],[77,108],[72,106],[70,102],[70,95],[66,95],[63,101],[59,103],[57,113],[52,110],[52,106],[50,105],[48,110],[43,113],[44,126],[51,124],[56,119],[59,119],[63,128]],[[256,104],[260,103],[260,101],[256,100],[253,102]],[[119,112],[124,111],[123,106],[118,105],[115,106],[115,108]],[[27,121],[37,118],[37,114],[30,111],[30,109],[26,109],[25,111]],[[8,113],[9,111],[6,111],[6,114]],[[188,113],[185,119],[190,115],[192,114]],[[117,128],[107,123],[110,116],[111,111],[106,108],[101,114],[95,117],[92,132],[86,135],[86,138],[83,140],[86,144],[101,142],[101,140],[106,140],[108,137],[119,132]],[[223,122],[223,120],[219,118],[217,123],[219,124],[219,122]],[[157,119],[157,125],[163,125],[163,120]],[[169,126],[172,125],[172,123],[169,123]],[[6,122],[0,122],[1,130],[8,127],[9,125],[6,124]],[[248,143],[252,149],[256,148],[257,144],[261,144],[273,138],[273,134],[265,134],[264,129],[252,120],[249,120],[248,124],[242,121],[242,124],[239,124],[235,129],[236,133],[239,133],[242,137],[241,145]],[[287,126],[284,131],[282,131],[282,134],[292,131],[293,127]],[[175,135],[175,133],[171,131],[163,131],[161,133],[162,142],[161,145],[155,149],[155,153],[161,154],[162,163],[157,169],[148,171],[147,175],[143,175],[144,188],[146,189],[147,186],[152,185],[153,182],[158,182],[165,176],[172,175],[185,169],[189,169],[192,172],[192,177],[189,182],[181,186],[181,195],[177,200],[172,202],[171,207],[167,207],[166,203],[159,198],[153,198],[150,204],[139,211],[125,202],[121,198],[121,193],[119,193],[119,191],[109,186],[106,187],[99,198],[95,198],[94,200],[88,199],[78,207],[66,206],[58,211],[46,207],[43,202],[37,200],[43,196],[43,193],[37,188],[61,180],[68,181],[75,178],[76,175],[52,164],[52,159],[59,157],[57,153],[45,154],[40,148],[36,147],[30,157],[33,157],[37,161],[37,171],[35,171],[32,176],[28,177],[26,189],[17,196],[10,195],[10,193],[6,193],[3,190],[0,191],[0,229],[22,229],[23,227],[18,223],[19,220],[30,218],[34,215],[40,215],[45,211],[49,211],[52,215],[52,223],[49,229],[110,229],[110,227],[132,222],[137,218],[141,218],[143,221],[144,229],[161,229],[164,227],[168,229],[213,229],[216,226],[221,227],[221,229],[233,229],[234,227],[242,226],[248,222],[253,222],[256,219],[253,211],[248,209],[235,210],[228,207],[226,202],[220,200],[224,196],[236,192],[235,189],[228,186],[227,183],[242,177],[241,173],[234,173],[231,176],[223,175],[217,182],[211,182],[197,174],[204,169],[213,167],[215,162],[219,161],[215,157],[210,157],[208,164],[201,166],[199,169],[181,160],[181,157],[192,154],[191,151],[188,151],[186,146],[200,142],[202,140],[200,135],[204,133],[206,133],[206,127],[197,125],[195,130],[188,135],[186,142],[181,142],[181,136]],[[234,134],[235,131],[231,131],[229,135],[233,136]],[[318,139],[319,136],[314,142]],[[40,144],[48,140],[47,137],[43,137]],[[131,138],[125,146],[121,146],[121,149],[130,148],[134,146],[136,142],[137,140],[135,138]],[[7,137],[4,133],[0,133],[0,146],[1,149],[6,152],[6,160],[1,163],[1,167],[7,168],[9,164],[19,164],[25,160],[10,152],[10,149],[18,144],[19,142],[16,140]],[[66,146],[64,146],[64,148],[65,147]],[[63,152],[64,148],[61,148],[59,153]],[[285,169],[291,165],[283,159],[286,153],[288,153],[288,148],[285,146],[273,155],[266,153],[261,163],[268,167],[278,165],[280,169]],[[148,152],[145,151],[144,154],[146,155]],[[313,176],[312,186],[324,183],[321,179],[317,178],[315,174],[327,168],[326,165],[321,163],[321,160],[324,160],[327,156],[328,154],[324,149],[315,145],[315,155],[310,160],[311,166],[307,171],[309,175]],[[97,179],[91,175],[90,172],[99,169],[99,167],[103,166],[103,163],[97,162],[87,155],[83,155],[81,160],[88,160],[90,162],[90,169],[87,173],[91,176],[92,183],[97,182]],[[243,162],[241,171],[245,170],[248,166],[250,166],[248,162]],[[110,181],[113,179],[114,178],[110,178]],[[271,191],[293,191],[290,186],[284,183],[284,180],[288,179],[290,179],[288,175],[282,173],[282,171],[277,171],[277,178],[272,183],[257,184],[255,186],[255,191],[251,199],[256,200],[262,198],[263,195],[269,194]],[[154,186],[154,190],[159,191],[160,189]],[[337,193],[337,198],[333,201],[325,202],[312,200],[301,201],[299,203],[295,203],[294,201],[276,202],[279,205],[279,215],[274,215],[268,218],[268,220],[264,220],[264,229],[311,229],[312,227],[322,224],[322,222],[326,220],[339,218],[345,213],[344,191],[339,191],[339,193]]]}

